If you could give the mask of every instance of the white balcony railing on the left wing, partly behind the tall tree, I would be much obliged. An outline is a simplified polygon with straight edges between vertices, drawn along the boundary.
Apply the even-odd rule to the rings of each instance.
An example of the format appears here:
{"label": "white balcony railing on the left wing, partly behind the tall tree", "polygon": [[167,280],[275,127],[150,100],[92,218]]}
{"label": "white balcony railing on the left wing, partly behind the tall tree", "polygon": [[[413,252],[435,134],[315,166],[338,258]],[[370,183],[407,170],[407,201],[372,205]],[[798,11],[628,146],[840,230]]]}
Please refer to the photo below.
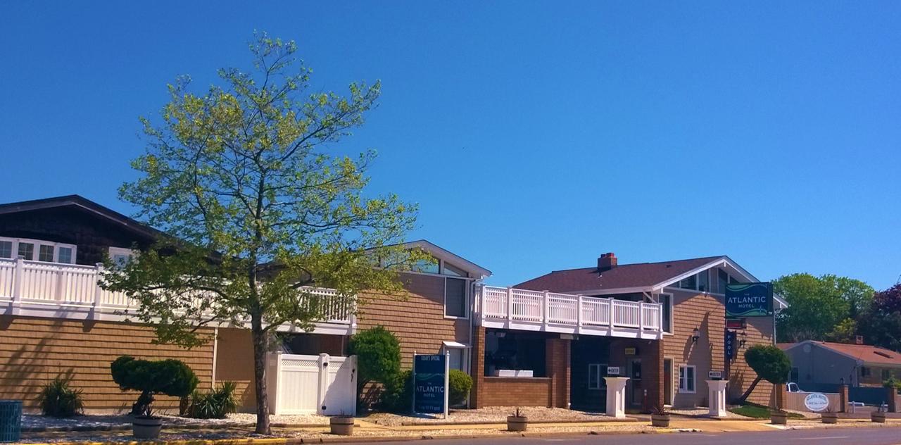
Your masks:
{"label": "white balcony railing on the left wing, partly behind the tall tree", "polygon": [[[99,286],[103,268],[48,263],[26,259],[0,259],[0,314],[53,318],[120,320],[138,303],[121,292]],[[322,298],[322,323],[350,325],[353,310],[333,289],[310,288]],[[198,298],[198,304],[205,299]],[[318,329],[317,329],[318,330]],[[346,329],[345,329],[346,331]]]}

